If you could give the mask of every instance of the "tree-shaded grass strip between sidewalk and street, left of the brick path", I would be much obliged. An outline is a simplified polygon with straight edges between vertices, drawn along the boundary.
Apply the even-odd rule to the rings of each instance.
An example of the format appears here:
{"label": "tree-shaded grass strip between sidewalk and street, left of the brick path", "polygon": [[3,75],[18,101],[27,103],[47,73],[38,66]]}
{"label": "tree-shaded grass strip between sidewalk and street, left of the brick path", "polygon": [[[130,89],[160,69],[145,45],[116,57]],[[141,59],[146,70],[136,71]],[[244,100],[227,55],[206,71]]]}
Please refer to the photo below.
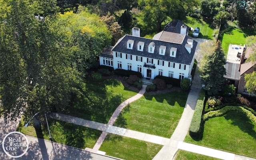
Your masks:
{"label": "tree-shaded grass strip between sidewalk and street, left of the brick path", "polygon": [[[86,128],[68,122],[53,120],[52,118],[47,119],[52,141],[60,144],[65,144],[81,149],[86,147],[93,148],[94,144],[102,133],[101,131],[94,130],[92,128]],[[32,121],[30,123],[33,124]],[[22,118],[17,131],[26,135],[50,140],[46,124],[42,125],[42,130],[36,131],[33,126],[24,127],[24,121]]]}

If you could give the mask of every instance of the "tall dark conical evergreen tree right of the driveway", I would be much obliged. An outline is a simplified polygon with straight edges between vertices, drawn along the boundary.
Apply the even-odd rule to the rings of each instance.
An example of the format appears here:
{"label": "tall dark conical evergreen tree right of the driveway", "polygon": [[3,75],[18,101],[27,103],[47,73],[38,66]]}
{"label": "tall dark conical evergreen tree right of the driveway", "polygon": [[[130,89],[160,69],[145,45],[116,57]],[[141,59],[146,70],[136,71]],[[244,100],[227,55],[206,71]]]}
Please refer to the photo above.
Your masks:
{"label": "tall dark conical evergreen tree right of the driveway", "polygon": [[203,84],[205,84],[204,88],[208,95],[217,94],[221,90],[225,80],[223,76],[226,74],[225,64],[224,52],[220,40],[218,40],[212,54],[207,56],[206,62],[201,68],[202,74],[200,77]]}

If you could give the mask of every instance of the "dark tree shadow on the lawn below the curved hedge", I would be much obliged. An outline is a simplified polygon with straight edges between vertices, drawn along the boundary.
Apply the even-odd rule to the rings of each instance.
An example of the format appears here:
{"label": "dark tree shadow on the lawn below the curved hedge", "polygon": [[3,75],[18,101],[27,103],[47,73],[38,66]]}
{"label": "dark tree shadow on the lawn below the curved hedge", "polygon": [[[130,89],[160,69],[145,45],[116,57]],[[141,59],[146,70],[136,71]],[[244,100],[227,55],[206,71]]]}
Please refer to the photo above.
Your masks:
{"label": "dark tree shadow on the lawn below the curved hedge", "polygon": [[238,126],[240,130],[248,133],[250,136],[256,139],[256,132],[254,130],[254,125],[252,124],[253,122],[245,114],[230,111],[224,116],[224,118],[226,120],[232,120],[232,125]]}

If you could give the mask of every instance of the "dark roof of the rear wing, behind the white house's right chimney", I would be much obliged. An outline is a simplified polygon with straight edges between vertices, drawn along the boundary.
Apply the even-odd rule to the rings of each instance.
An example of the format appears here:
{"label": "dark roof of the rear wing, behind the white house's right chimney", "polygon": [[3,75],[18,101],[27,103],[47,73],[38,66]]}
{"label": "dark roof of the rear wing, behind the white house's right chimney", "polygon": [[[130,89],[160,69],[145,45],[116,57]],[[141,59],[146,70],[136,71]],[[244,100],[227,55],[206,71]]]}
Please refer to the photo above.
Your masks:
{"label": "dark roof of the rear wing, behind the white house's right chimney", "polygon": [[[182,24],[184,24],[184,23],[180,20],[172,20],[171,22],[166,24],[166,26],[164,26],[163,31],[180,33],[180,28],[181,28]],[[188,33],[188,30],[190,29],[190,27],[188,27],[188,25],[186,25],[186,24],[184,24],[184,25],[187,26],[186,33]]]}

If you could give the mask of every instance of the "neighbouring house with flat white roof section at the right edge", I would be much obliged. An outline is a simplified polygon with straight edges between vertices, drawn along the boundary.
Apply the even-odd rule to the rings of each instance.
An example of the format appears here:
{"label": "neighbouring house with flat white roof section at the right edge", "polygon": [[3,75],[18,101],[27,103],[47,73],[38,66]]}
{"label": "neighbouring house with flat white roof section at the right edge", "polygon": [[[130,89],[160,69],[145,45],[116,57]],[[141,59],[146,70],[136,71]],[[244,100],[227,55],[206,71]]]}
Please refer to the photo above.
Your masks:
{"label": "neighbouring house with flat white roof section at the right edge", "polygon": [[[244,87],[246,84],[244,75],[250,74],[256,69],[256,64],[246,62],[250,52],[251,50],[247,49],[246,44],[244,46],[230,44],[228,49],[225,65],[227,74],[224,77],[228,80],[228,84],[234,84],[237,93],[240,94],[249,94]],[[250,93],[250,95],[256,96],[256,92]]]}

